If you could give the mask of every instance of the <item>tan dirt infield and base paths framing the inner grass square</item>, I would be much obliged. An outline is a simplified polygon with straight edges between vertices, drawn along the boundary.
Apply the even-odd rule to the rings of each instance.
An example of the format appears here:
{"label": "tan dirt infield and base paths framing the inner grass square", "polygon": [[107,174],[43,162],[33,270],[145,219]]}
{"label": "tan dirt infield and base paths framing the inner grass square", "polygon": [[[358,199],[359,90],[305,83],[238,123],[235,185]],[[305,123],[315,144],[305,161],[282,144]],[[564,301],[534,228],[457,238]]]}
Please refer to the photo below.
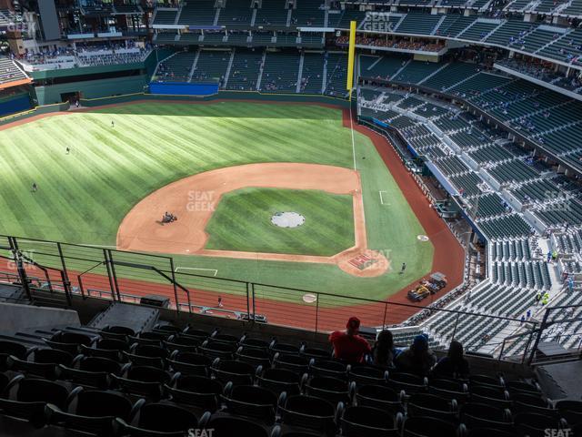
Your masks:
{"label": "tan dirt infield and base paths framing the inner grass square", "polygon": [[[205,231],[206,225],[222,196],[249,187],[318,189],[352,196],[355,245],[332,257],[204,249],[209,237]],[[166,211],[175,214],[178,220],[161,223]],[[366,219],[359,173],[349,168],[318,164],[248,164],[183,178],[141,200],[125,216],[117,231],[117,248],[122,250],[336,264],[358,277],[385,273],[387,259],[366,246]],[[363,254],[376,262],[366,269],[359,269],[349,262]]]}

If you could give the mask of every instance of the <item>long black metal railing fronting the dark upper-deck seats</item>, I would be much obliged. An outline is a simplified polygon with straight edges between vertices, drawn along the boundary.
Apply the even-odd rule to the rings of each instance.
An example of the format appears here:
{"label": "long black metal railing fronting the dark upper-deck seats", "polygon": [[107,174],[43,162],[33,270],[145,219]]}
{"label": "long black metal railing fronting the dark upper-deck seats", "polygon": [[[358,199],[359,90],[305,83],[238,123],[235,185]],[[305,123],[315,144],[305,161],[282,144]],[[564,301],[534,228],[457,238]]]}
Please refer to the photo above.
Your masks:
{"label": "long black metal railing fronting the dark upper-deck seats", "polygon": [[[498,360],[517,362],[536,360],[534,352],[541,341],[566,340],[577,353],[581,342],[579,331],[570,332],[567,328],[581,322],[579,306],[548,308],[543,320],[522,322],[389,299],[368,300],[176,272],[174,259],[162,255],[4,235],[0,236],[0,282],[21,285],[24,297],[33,302],[47,293],[64,296],[68,305],[74,298],[139,303],[145,296],[157,295],[168,299],[169,308],[176,314],[206,314],[316,332],[343,329],[346,320],[355,315],[362,320],[363,326],[390,327],[395,332],[414,335],[421,328],[411,321],[401,323],[403,320],[414,314],[416,318],[424,314],[426,317],[422,319],[425,320],[446,314],[444,317],[447,317],[452,332],[447,338],[434,339],[441,345],[461,335],[460,328],[457,330],[461,321],[482,324],[487,320],[515,328],[510,335],[495,334],[487,342],[469,344],[467,351],[479,351]],[[218,297],[222,298],[222,306],[218,305]],[[570,307],[576,310],[577,317],[567,316]]]}

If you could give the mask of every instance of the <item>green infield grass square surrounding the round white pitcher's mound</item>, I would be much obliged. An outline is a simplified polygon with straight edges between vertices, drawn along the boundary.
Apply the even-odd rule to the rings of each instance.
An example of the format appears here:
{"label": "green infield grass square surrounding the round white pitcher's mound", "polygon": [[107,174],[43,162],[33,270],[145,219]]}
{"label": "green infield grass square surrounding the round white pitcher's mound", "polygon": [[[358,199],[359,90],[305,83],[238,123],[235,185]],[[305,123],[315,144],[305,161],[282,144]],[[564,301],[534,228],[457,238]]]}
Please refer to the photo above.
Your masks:
{"label": "green infield grass square surrounding the round white pitcher's mound", "polygon": [[[295,229],[271,223],[276,212],[306,218]],[[206,226],[206,249],[330,257],[354,246],[352,197],[316,190],[246,188],[221,198]]]}

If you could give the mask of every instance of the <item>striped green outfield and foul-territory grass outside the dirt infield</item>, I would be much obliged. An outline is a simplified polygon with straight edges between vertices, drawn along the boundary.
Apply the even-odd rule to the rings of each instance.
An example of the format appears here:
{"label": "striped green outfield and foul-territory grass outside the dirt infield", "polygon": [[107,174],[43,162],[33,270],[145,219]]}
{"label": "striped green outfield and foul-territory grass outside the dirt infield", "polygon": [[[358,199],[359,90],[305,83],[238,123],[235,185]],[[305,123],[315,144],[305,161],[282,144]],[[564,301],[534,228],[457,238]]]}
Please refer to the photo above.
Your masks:
{"label": "striped green outfield and foul-territory grass outside the dirt infield", "polygon": [[[406,262],[404,275],[389,271],[357,279],[332,265],[199,256],[178,256],[176,266],[371,299],[385,298],[428,273],[432,245],[416,239],[424,230],[369,138],[356,132],[354,140],[368,247],[384,250],[396,266]],[[352,135],[342,126],[340,110],[243,102],[144,102],[46,117],[0,131],[0,157],[0,233],[105,246],[115,245],[130,208],[179,178],[255,162],[354,165]],[[58,266],[49,253],[52,246],[30,246],[37,249],[37,262]],[[70,269],[91,267],[90,260],[76,258]],[[210,279],[183,280],[217,287]]]}

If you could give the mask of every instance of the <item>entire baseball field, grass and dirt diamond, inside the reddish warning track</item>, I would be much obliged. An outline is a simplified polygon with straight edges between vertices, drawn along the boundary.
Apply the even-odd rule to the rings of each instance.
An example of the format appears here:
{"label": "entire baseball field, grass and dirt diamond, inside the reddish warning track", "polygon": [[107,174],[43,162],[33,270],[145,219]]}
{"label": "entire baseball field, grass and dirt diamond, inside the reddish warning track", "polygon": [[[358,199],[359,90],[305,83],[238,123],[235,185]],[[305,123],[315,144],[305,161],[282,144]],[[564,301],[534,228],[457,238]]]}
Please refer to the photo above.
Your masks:
{"label": "entire baseball field, grass and dirt diamond, inside the reddish warning track", "polygon": [[[138,102],[7,125],[0,233],[386,299],[432,271],[432,238],[419,237],[433,231],[370,137],[345,121],[320,105]],[[166,211],[177,220],[164,223]],[[287,212],[303,221],[276,225]]]}

